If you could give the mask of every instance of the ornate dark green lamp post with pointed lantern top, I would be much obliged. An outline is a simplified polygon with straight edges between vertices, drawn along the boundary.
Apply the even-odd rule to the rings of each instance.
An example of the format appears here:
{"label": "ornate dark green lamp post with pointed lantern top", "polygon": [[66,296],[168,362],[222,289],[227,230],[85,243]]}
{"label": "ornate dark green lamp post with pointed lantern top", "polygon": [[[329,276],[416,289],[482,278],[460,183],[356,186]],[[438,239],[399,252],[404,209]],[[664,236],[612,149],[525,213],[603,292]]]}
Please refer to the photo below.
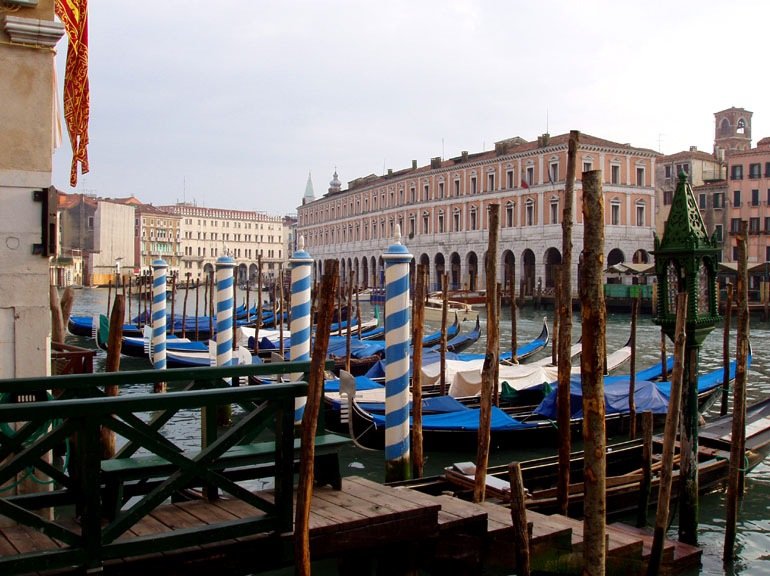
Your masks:
{"label": "ornate dark green lamp post with pointed lantern top", "polygon": [[720,317],[717,313],[717,254],[709,238],[687,175],[679,175],[663,238],[655,238],[658,279],[657,316],[672,340],[676,326],[676,297],[687,292],[682,425],[680,434],[679,539],[697,544],[698,528],[698,357],[703,340]]}

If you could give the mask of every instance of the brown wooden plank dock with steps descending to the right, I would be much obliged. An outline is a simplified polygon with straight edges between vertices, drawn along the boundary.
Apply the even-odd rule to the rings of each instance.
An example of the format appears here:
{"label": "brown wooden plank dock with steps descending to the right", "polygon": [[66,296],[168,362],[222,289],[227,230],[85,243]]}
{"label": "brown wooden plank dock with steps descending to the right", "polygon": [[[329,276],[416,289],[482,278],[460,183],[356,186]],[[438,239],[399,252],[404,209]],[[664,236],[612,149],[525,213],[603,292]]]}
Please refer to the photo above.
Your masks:
{"label": "brown wooden plank dock with steps descending to the right", "polygon": [[[269,498],[270,492],[261,492]],[[135,576],[143,571],[168,575],[247,574],[290,566],[293,536],[256,534],[207,544],[185,535],[208,524],[253,519],[255,509],[230,499],[165,504],[143,518],[120,540],[151,540],[160,533],[177,533],[173,552],[107,560],[103,573]],[[563,516],[528,512],[533,570],[579,573],[582,563],[582,522]],[[59,523],[77,528],[74,519]],[[480,574],[484,566],[515,568],[511,546],[510,510],[494,503],[472,504],[449,496],[430,496],[408,488],[392,488],[360,477],[343,480],[342,490],[314,491],[310,520],[314,560],[336,559],[340,574],[406,574],[419,567],[429,573]],[[636,528],[607,527],[608,569],[643,574],[651,536]],[[0,528],[0,554],[58,550],[61,543],[24,527]],[[666,573],[697,566],[701,551],[667,542]],[[82,570],[82,568],[80,569]],[[74,569],[72,571],[74,573]],[[35,574],[64,574],[35,572]]]}

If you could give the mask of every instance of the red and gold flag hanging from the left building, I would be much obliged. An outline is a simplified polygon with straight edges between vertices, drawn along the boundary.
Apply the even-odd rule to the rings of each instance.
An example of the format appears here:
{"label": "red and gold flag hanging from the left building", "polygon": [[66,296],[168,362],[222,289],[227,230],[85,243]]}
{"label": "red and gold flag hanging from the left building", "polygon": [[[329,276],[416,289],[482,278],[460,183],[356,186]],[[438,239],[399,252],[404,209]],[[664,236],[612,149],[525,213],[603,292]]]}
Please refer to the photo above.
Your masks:
{"label": "red and gold flag hanging from the left building", "polygon": [[64,24],[69,44],[64,72],[64,121],[72,144],[70,186],[88,172],[88,0],[56,0],[56,15]]}

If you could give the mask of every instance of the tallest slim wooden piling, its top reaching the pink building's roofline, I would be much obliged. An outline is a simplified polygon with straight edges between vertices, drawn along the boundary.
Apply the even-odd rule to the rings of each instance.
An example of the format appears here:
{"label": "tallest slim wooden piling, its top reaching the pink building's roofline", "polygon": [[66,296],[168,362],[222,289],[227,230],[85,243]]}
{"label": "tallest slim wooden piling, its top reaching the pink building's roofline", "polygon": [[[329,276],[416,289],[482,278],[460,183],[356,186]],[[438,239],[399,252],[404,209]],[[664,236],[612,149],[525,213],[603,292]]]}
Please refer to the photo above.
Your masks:
{"label": "tallest slim wooden piling, its top reaching the pink building's roofline", "polygon": [[567,148],[567,180],[564,185],[564,211],[562,213],[562,268],[561,300],[559,314],[558,388],[556,390],[556,421],[559,429],[559,477],[556,484],[556,500],[559,512],[567,514],[569,503],[570,452],[570,379],[572,375],[572,224],[575,203],[575,172],[580,132],[571,130]]}

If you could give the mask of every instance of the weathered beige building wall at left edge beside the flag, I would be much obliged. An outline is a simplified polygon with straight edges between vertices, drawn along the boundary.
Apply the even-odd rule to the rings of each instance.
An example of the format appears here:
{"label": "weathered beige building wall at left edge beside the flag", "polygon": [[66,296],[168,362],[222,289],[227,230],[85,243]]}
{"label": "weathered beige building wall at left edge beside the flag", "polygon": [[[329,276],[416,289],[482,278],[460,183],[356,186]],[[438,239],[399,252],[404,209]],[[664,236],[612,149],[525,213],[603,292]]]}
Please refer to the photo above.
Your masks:
{"label": "weathered beige building wall at left edge beside the flag", "polygon": [[0,378],[50,373],[49,258],[56,255],[52,182],[53,2],[0,13]]}

